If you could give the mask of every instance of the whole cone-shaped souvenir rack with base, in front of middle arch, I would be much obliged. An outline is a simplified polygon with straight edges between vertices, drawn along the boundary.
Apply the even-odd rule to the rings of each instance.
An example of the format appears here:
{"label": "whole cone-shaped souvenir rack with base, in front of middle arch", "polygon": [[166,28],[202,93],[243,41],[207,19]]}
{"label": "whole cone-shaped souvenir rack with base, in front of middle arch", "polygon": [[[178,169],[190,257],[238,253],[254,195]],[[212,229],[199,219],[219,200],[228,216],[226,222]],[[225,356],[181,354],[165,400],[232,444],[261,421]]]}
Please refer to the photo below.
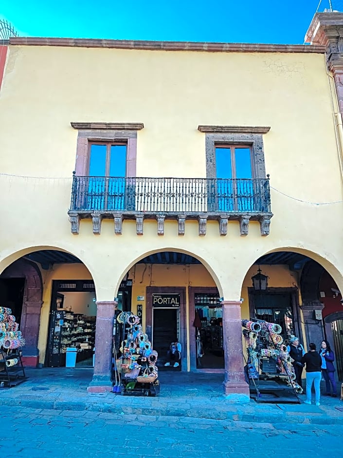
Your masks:
{"label": "whole cone-shaped souvenir rack with base, in front of middle arch", "polygon": [[[123,325],[123,340],[117,351],[114,344],[116,339],[113,337],[113,393],[156,396],[160,392],[156,366],[158,354],[151,348],[148,336],[142,331],[140,318],[131,312],[121,312],[116,321]],[[114,324],[113,329],[116,328]]]}

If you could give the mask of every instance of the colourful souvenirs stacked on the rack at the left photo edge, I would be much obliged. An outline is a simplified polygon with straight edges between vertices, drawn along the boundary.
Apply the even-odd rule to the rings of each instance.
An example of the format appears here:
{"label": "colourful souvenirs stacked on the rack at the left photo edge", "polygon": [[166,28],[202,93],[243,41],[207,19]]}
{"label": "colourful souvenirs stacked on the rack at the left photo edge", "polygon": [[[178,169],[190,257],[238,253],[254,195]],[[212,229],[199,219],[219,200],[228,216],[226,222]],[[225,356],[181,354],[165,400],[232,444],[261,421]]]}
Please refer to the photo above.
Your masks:
{"label": "colourful souvenirs stacked on the rack at the left photo edge", "polygon": [[21,331],[18,330],[19,324],[11,313],[10,308],[0,307],[0,350],[7,354],[25,345]]}

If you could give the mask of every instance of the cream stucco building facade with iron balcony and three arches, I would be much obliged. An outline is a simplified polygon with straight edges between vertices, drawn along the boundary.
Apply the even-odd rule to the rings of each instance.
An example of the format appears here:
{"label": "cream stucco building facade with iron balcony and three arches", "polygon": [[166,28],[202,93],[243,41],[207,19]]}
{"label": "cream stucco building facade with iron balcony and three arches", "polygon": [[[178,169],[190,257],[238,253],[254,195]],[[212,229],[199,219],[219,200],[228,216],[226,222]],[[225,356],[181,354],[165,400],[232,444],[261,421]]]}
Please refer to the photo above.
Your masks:
{"label": "cream stucco building facade with iron balcony and three arches", "polygon": [[[306,262],[318,263],[343,289],[342,117],[325,45],[323,40],[306,46],[10,40],[0,89],[0,273],[4,282],[27,280],[25,267],[15,273],[18,262],[36,269],[31,286],[36,295],[28,299],[26,289],[21,309],[31,336],[27,356],[34,363],[48,361],[53,281],[90,280],[97,304],[92,383],[108,389],[114,303],[128,280],[130,310],[137,313],[141,306],[150,333],[153,288],[159,293],[182,288],[182,370],[200,370],[194,295],[209,288],[222,305],[217,318],[222,318],[225,393],[247,394],[239,329],[240,319],[253,313],[249,288],[258,264],[271,291],[281,288],[296,298],[291,304],[297,309],[296,333],[307,343]],[[107,149],[107,169],[100,174],[90,173],[96,146]],[[125,148],[123,175],[111,173],[119,164],[119,159],[109,164],[115,146]],[[239,148],[248,151],[247,176],[238,170]],[[228,156],[220,162],[222,150]],[[231,175],[223,172],[225,164]],[[127,207],[125,194],[110,205],[105,178],[97,191],[77,178],[90,175],[132,178],[124,194],[133,195],[134,203]],[[140,177],[161,178],[164,187],[154,194],[156,181],[151,185]],[[173,191],[169,177],[185,180]],[[195,178],[202,181],[194,185]],[[242,191],[244,179],[250,184]],[[220,180],[229,180],[232,188],[218,191]],[[97,197],[81,202],[82,193]],[[137,207],[140,198],[145,205],[162,193],[155,207]],[[108,200],[99,203],[99,195]],[[196,208],[190,195],[198,195]],[[229,195],[231,203],[222,203]],[[259,205],[261,199],[270,209]],[[52,257],[43,265],[30,258],[36,252],[71,254],[77,262]],[[286,262],[287,252],[302,255],[301,262]],[[158,253],[187,257],[159,261]],[[263,262],[271,253],[284,257]],[[312,292],[308,320],[314,309],[323,309],[324,296],[321,300],[318,287]]]}

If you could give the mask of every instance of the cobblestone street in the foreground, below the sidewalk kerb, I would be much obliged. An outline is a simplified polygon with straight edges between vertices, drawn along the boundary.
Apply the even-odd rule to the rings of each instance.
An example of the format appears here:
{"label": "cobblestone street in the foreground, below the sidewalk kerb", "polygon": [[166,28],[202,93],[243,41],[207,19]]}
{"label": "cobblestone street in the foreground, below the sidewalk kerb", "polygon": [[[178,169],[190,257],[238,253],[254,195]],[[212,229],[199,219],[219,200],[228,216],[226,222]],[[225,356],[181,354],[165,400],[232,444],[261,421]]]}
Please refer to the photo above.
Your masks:
{"label": "cobblestone street in the foreground, below the sidewalk kerb", "polygon": [[1,406],[1,458],[342,457],[342,426]]}

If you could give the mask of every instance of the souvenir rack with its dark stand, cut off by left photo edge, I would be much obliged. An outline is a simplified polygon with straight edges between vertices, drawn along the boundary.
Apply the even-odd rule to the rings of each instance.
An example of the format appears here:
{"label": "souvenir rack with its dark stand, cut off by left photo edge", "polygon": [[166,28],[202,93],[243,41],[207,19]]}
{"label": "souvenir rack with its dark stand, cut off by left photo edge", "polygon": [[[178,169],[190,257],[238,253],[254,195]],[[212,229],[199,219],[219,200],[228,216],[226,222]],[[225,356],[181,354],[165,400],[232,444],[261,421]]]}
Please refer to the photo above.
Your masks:
{"label": "souvenir rack with its dark stand, cut off by left photo edge", "polygon": [[16,386],[26,380],[21,361],[25,340],[12,310],[0,307],[0,387]]}

